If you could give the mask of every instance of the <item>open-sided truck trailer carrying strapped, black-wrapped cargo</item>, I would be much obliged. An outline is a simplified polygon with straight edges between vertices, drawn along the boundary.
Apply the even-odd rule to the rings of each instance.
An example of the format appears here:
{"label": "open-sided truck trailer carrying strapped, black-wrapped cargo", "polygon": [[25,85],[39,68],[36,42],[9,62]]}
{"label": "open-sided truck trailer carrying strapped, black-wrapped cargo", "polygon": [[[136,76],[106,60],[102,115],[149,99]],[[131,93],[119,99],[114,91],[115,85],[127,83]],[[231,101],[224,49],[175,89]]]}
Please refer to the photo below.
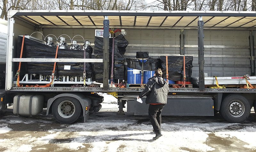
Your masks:
{"label": "open-sided truck trailer carrying strapped, black-wrapped cargo", "polygon": [[[255,83],[250,83],[249,79],[255,76],[256,70],[255,27],[255,11],[9,11],[6,85],[0,94],[1,104],[13,103],[13,113],[18,115],[36,115],[45,107],[47,115],[52,113],[60,123],[73,123],[81,115],[84,121],[87,120],[89,109],[100,110],[103,98],[96,92],[112,92],[118,98],[119,114],[124,113],[126,103],[127,112],[147,114],[147,106],[134,100],[144,90],[143,86],[123,88],[109,85],[109,29],[125,29],[125,38],[129,41],[125,58],[135,58],[136,52],[143,51],[152,58],[193,56],[192,77],[197,77],[198,85],[192,88],[170,87],[163,115],[214,116],[215,112],[220,112],[229,122],[243,122],[253,106],[255,109],[256,102]],[[19,56],[23,45],[18,43],[19,36],[27,35],[26,38],[47,44],[46,35],[56,35],[56,39],[60,35],[82,35],[93,48],[95,29],[103,29],[102,59],[86,59],[84,56],[58,58],[55,52],[52,58]],[[50,85],[51,78],[47,81],[41,75],[22,73],[22,67],[31,62],[49,65],[54,62],[67,65],[103,62],[103,85],[71,87],[73,81],[83,84],[83,79],[79,81],[79,78],[70,81],[71,76],[65,77],[65,85],[62,85],[54,72]],[[53,66],[50,67],[49,71],[52,71]],[[215,81],[210,87],[205,85],[205,73]],[[17,81],[17,76],[20,76],[20,81]],[[38,81],[34,79],[37,77]],[[216,85],[218,77],[246,79],[252,86],[246,81],[244,87],[220,87]],[[46,81],[49,83],[46,87],[35,87],[35,84],[46,84]],[[23,86],[17,82],[23,82]],[[31,84],[35,86],[29,87]]]}

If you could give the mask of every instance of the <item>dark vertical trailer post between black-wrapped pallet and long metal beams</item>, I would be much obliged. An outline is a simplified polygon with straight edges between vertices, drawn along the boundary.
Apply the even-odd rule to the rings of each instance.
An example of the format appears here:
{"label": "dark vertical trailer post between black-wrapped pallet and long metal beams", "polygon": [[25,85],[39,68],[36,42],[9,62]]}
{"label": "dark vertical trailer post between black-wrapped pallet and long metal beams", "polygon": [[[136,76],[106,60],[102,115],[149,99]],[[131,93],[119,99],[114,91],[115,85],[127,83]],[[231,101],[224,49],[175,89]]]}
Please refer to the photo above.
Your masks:
{"label": "dark vertical trailer post between black-wrapped pallet and long metal beams", "polygon": [[204,91],[204,21],[199,16],[198,25],[198,64],[199,64],[199,90]]}

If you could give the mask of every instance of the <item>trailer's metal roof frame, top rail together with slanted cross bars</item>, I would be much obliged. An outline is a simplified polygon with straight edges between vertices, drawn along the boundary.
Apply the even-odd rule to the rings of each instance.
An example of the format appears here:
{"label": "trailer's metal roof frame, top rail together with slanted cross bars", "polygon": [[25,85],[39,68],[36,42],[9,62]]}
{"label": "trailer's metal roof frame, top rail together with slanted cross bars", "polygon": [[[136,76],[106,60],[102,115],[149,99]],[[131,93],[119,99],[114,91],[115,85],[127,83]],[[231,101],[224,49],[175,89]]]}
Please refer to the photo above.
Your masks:
{"label": "trailer's metal roof frame, top rail together with slanted cross bars", "polygon": [[[212,27],[205,27],[204,29],[220,29],[223,30],[223,27],[215,27],[216,25],[220,24],[221,22],[225,21],[226,19],[230,18],[230,17],[255,17],[255,11],[74,11],[74,10],[70,10],[70,11],[63,11],[63,10],[58,10],[58,11],[46,11],[46,10],[33,10],[33,11],[8,11],[8,18],[11,18],[13,16],[24,16],[29,18],[28,16],[41,16],[42,18],[44,18],[45,20],[47,20],[48,22],[52,23],[53,25],[55,25],[52,21],[50,21],[49,19],[46,19],[44,16],[56,16],[57,18],[60,19],[59,16],[72,16],[77,23],[80,25],[73,25],[73,26],[69,26],[63,19],[60,19],[63,23],[65,23],[67,26],[63,26],[63,25],[57,25],[53,28],[59,28],[59,26],[61,26],[61,28],[101,28],[101,26],[95,26],[95,23],[93,22],[92,18],[90,16],[119,16],[119,20],[120,20],[120,26],[110,26],[110,28],[147,28],[147,29],[197,29],[196,27],[188,27],[192,22],[194,22],[198,16],[204,16],[204,17],[227,17],[223,20],[221,20],[220,22],[218,22],[217,24],[213,25]],[[88,16],[88,18],[91,20],[93,26],[83,26],[78,19],[75,18],[75,16]],[[122,16],[134,16],[134,24],[133,26],[122,26]],[[137,16],[148,16],[149,20],[146,26],[136,26],[136,18]],[[172,27],[169,26],[163,26],[165,20],[168,17],[172,17],[172,16],[180,16],[180,18],[176,21],[176,23],[174,25],[172,25]],[[184,27],[177,27],[175,26],[183,17],[189,17],[189,16],[196,16],[196,18],[194,20],[192,20],[190,23],[188,23],[188,25],[185,25]],[[162,23],[160,24],[160,26],[148,26],[150,24],[150,20],[152,17],[165,17],[164,20],[162,21]],[[208,19],[206,22],[209,22],[212,18]],[[243,19],[240,18],[238,20],[236,20],[233,23],[236,23],[237,21]],[[32,18],[29,18],[31,20],[33,20]],[[256,19],[252,19],[251,21],[243,24],[246,25],[252,21],[255,21]],[[39,22],[33,20],[34,22],[36,22],[38,25],[42,26],[42,28],[52,28],[52,25],[42,25]],[[29,21],[28,21],[29,22]],[[231,24],[233,24],[231,23]],[[229,24],[229,25],[231,25]],[[241,27],[243,25],[240,25],[238,27],[241,28],[236,28],[236,27],[228,27],[229,25],[226,25],[224,28],[227,28],[229,30],[241,30],[241,29],[254,29],[254,26],[251,27]]]}

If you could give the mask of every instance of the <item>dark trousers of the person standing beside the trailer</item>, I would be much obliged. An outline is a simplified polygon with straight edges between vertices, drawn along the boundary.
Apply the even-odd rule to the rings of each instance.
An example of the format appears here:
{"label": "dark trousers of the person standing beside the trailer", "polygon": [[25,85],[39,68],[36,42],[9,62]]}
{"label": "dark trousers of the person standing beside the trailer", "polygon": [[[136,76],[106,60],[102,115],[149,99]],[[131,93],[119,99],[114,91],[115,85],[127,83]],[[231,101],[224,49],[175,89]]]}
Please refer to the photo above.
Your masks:
{"label": "dark trousers of the person standing beside the trailer", "polygon": [[149,105],[148,116],[156,134],[161,132],[161,113],[164,105]]}

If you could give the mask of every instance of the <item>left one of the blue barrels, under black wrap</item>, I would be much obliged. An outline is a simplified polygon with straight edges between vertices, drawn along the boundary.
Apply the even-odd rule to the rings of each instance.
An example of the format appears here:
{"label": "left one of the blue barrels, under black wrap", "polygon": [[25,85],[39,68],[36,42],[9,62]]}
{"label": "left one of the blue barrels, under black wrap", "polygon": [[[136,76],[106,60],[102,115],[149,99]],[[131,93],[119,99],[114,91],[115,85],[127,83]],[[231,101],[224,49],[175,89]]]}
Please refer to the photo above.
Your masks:
{"label": "left one of the blue barrels, under black wrap", "polygon": [[141,72],[136,69],[127,69],[127,83],[128,84],[140,84],[141,83]]}

